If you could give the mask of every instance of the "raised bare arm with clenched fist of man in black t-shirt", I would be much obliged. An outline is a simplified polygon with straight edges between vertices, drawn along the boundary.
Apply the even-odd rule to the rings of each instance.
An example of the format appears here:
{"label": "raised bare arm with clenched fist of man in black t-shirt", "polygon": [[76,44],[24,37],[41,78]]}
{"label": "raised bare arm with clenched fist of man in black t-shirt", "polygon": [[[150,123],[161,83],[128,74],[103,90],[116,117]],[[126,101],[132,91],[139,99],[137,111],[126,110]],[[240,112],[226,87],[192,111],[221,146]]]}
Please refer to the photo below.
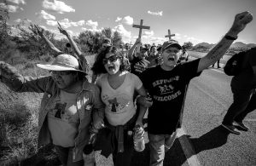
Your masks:
{"label": "raised bare arm with clenched fist of man in black t-shirt", "polygon": [[241,14],[236,14],[230,31],[225,34],[220,42],[218,42],[206,56],[201,58],[201,60],[199,61],[197,72],[201,72],[207,69],[217,60],[219,60],[230,48],[230,45],[234,42],[234,40],[236,40],[238,33],[241,32],[252,20],[253,15],[249,12],[242,12]]}

